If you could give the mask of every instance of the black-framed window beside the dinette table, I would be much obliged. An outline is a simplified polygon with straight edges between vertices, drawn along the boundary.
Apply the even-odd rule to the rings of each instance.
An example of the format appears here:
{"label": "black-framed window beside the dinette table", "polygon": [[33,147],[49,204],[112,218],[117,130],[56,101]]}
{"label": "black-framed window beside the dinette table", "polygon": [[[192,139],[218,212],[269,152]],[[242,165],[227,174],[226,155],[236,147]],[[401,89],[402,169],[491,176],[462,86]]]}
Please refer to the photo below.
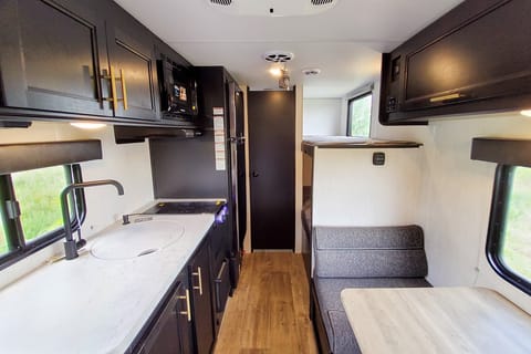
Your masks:
{"label": "black-framed window beside the dinette table", "polygon": [[531,168],[499,165],[487,254],[507,281],[531,294]]}

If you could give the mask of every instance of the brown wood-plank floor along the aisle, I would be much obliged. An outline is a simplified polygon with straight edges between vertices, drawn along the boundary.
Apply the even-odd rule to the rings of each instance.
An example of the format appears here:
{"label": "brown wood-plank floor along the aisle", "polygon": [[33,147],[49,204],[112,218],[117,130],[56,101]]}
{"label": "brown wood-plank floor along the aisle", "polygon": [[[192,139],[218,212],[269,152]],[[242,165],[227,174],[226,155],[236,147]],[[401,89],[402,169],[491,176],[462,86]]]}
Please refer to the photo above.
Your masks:
{"label": "brown wood-plank floor along the aisle", "polygon": [[317,353],[301,254],[246,254],[215,354]]}

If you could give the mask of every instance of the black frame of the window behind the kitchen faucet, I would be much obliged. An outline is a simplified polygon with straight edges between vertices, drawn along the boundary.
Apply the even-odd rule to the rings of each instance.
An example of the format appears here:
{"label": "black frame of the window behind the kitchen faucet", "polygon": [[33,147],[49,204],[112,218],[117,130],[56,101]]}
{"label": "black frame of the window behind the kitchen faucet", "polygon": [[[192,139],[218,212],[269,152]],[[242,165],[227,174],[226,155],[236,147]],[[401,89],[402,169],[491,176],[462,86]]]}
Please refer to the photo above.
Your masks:
{"label": "black frame of the window behind the kitchen faucet", "polygon": [[[65,168],[69,184],[83,181],[81,166],[79,164],[59,166],[63,166]],[[73,198],[71,196],[69,205],[71,206],[71,214],[79,216],[79,219],[71,216],[71,228],[74,232],[81,228],[81,225],[85,220],[86,202],[83,189],[74,189],[73,192],[75,194],[75,204],[73,202]],[[17,263],[28,256],[33,254],[65,237],[63,227],[44,233],[33,240],[27,241],[24,239],[22,223],[20,221],[20,215],[10,217],[10,211],[8,209],[13,207],[8,207],[8,204],[11,206],[14,205],[14,208],[18,208],[11,174],[0,175],[0,217],[2,218],[4,226],[6,241],[8,244],[12,244],[13,247],[13,249],[8,253],[0,256],[0,270]],[[72,209],[72,206],[74,205],[75,211]]]}

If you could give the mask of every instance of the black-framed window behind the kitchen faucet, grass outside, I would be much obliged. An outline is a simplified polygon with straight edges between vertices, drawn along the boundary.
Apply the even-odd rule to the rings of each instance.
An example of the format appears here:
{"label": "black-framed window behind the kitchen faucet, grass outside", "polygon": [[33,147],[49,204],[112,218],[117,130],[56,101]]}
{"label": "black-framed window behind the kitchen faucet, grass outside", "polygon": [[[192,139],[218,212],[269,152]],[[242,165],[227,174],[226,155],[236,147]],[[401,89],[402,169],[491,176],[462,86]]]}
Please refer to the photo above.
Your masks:
{"label": "black-framed window behind the kitchen faucet, grass outside", "polygon": [[[79,165],[0,176],[0,267],[11,264],[64,236],[60,195],[73,181],[81,181]],[[71,220],[74,220],[72,227],[77,229],[84,217],[83,191],[75,190],[69,204]]]}

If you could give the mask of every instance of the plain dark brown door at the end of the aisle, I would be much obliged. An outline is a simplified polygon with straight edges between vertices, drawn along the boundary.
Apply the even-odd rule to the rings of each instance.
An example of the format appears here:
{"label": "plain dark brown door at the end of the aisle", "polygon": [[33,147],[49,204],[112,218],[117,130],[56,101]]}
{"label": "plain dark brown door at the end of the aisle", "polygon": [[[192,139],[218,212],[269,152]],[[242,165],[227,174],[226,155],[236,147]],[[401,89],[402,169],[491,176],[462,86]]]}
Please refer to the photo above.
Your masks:
{"label": "plain dark brown door at the end of the aisle", "polygon": [[249,92],[252,249],[294,249],[295,93]]}

